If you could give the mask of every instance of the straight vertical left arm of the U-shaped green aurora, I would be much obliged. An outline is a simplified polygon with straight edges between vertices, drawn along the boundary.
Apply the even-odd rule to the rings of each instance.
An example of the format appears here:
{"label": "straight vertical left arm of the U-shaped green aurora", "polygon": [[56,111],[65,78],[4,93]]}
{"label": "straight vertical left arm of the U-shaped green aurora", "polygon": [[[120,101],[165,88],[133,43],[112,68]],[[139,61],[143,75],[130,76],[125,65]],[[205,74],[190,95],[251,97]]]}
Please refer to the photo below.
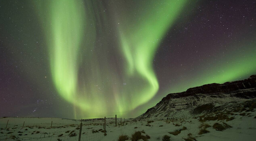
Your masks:
{"label": "straight vertical left arm of the U-shaped green aurora", "polygon": [[85,9],[79,8],[79,1],[51,2],[52,44],[49,52],[52,77],[58,92],[66,100],[74,102]]}

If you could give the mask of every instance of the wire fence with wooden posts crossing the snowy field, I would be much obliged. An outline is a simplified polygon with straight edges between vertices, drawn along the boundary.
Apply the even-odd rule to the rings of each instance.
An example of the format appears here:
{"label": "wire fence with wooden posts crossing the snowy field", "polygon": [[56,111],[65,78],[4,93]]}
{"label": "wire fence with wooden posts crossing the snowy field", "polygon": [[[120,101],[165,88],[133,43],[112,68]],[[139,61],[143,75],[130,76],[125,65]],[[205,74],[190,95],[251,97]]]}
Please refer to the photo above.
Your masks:
{"label": "wire fence with wooden posts crossing the snowy field", "polygon": [[[81,141],[100,141],[106,132],[111,132],[116,126],[115,118],[82,120]],[[0,141],[78,141],[80,124],[8,124],[7,129],[0,129]],[[120,125],[120,118],[117,118]],[[5,125],[6,126],[6,125]],[[50,128],[52,126],[52,128]],[[3,125],[1,126],[3,127]],[[2,134],[2,135],[1,135]]]}

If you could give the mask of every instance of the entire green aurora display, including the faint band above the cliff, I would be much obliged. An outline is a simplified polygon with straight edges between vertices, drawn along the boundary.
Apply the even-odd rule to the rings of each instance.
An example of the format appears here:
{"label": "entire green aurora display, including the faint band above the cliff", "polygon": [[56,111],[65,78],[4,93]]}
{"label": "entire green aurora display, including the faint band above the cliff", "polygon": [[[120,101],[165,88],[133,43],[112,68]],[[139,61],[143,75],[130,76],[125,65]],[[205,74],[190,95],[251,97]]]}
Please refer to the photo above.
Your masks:
{"label": "entire green aurora display, including the faint band above the cliff", "polygon": [[[5,40],[10,43],[9,54],[13,60],[23,62],[19,69],[26,74],[23,73],[22,77],[37,85],[40,89],[38,91],[42,91],[45,97],[56,93],[57,98],[51,97],[56,98],[52,101],[58,103],[54,110],[61,110],[58,112],[68,118],[101,118],[114,115],[133,118],[155,106],[168,93],[182,92],[208,83],[241,80],[256,72],[255,37],[251,33],[248,38],[243,39],[246,32],[237,34],[235,41],[224,38],[223,35],[227,44],[222,44],[228,49],[225,54],[222,54],[224,49],[217,46],[217,49],[212,49],[214,51],[205,52],[205,56],[193,55],[195,61],[203,61],[185,64],[184,67],[180,64],[186,63],[188,59],[185,57],[177,60],[174,58],[171,63],[157,63],[157,56],[165,61],[162,59],[165,57],[163,52],[160,52],[164,46],[168,48],[166,52],[180,48],[169,47],[169,42],[171,44],[171,41],[182,38],[176,36],[180,33],[178,30],[189,25],[189,18],[196,18],[194,13],[185,12],[187,15],[184,15],[184,11],[197,9],[196,5],[202,4],[200,2],[35,0],[25,2],[24,5],[26,4],[26,8],[34,13],[22,8],[15,9],[28,15],[24,14],[22,17],[8,13],[11,18],[6,21],[11,19],[20,22],[20,25],[4,23],[7,28],[0,30],[5,31],[3,35],[11,34]],[[34,23],[29,23],[32,18]],[[2,21],[0,23],[3,24]],[[18,28],[8,30],[16,25],[22,27],[23,31]],[[250,31],[249,29],[250,27],[243,30]],[[242,30],[239,29],[239,33],[240,31]],[[233,32],[233,36],[235,33],[237,31]],[[192,38],[197,33],[185,34]],[[183,33],[181,35],[186,36]],[[200,33],[197,36],[201,37]],[[12,38],[19,44],[17,51],[15,44],[11,44]],[[207,42],[207,39],[202,43],[210,50],[211,42]],[[36,46],[42,51],[33,48]],[[187,50],[193,48],[192,44],[186,46]],[[180,49],[188,56],[191,54],[184,50]],[[175,51],[174,54],[180,53],[179,50]],[[168,55],[166,60],[171,58]],[[184,58],[187,60],[184,61]],[[40,60],[43,63],[39,63]],[[176,77],[175,81],[173,77]]]}

